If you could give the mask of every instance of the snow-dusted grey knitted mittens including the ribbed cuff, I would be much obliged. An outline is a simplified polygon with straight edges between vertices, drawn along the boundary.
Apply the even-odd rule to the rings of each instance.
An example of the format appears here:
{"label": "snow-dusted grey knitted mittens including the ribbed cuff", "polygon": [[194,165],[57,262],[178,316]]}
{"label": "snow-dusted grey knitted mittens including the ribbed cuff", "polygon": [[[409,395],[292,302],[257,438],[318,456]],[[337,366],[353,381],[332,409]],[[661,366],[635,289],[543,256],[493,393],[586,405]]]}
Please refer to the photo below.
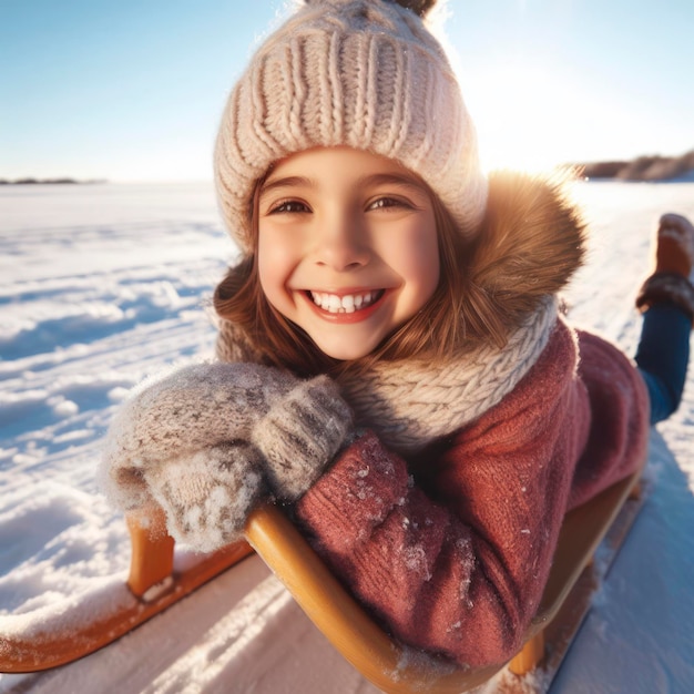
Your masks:
{"label": "snow-dusted grey knitted mittens including the ribbed cuff", "polygon": [[176,540],[206,551],[238,538],[263,496],[294,499],[308,489],[350,426],[327,377],[302,381],[256,364],[191,366],[123,406],[101,479],[115,506],[157,503]]}

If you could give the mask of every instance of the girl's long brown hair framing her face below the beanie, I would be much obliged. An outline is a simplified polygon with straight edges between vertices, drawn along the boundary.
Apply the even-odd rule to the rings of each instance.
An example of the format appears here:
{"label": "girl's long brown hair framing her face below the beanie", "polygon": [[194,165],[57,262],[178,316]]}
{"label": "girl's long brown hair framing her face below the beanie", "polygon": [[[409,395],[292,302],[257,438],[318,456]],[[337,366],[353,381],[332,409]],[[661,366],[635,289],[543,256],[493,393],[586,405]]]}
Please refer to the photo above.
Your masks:
{"label": "girl's long brown hair framing her face below the beanie", "polygon": [[[253,245],[257,248],[257,210],[262,186],[254,193],[252,228]],[[429,359],[438,361],[453,353],[470,349],[481,339],[498,345],[506,343],[507,329],[482,318],[487,310],[483,292],[472,286],[467,267],[474,256],[477,241],[462,238],[448,211],[438,197],[421,182],[431,200],[438,239],[439,284],[427,304],[404,323],[368,356],[345,363],[324,354],[306,333],[287,320],[265,298],[257,269],[257,254],[244,257],[231,267],[217,285],[213,304],[221,318],[241,327],[251,344],[263,355],[265,363],[282,366],[304,375],[336,374],[363,369],[374,361],[398,359]]]}

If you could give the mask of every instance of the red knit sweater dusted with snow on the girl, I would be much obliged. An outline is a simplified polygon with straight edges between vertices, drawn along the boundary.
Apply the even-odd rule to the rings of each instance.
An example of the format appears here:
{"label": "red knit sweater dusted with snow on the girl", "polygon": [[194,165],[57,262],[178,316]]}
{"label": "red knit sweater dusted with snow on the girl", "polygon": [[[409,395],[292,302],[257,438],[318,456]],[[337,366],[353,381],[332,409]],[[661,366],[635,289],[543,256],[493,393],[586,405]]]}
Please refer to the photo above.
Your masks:
{"label": "red knit sweater dusted with snow on the girl", "polygon": [[542,595],[565,511],[634,471],[647,399],[614,347],[559,323],[499,405],[406,463],[374,433],[297,507],[317,551],[402,642],[501,663]]}

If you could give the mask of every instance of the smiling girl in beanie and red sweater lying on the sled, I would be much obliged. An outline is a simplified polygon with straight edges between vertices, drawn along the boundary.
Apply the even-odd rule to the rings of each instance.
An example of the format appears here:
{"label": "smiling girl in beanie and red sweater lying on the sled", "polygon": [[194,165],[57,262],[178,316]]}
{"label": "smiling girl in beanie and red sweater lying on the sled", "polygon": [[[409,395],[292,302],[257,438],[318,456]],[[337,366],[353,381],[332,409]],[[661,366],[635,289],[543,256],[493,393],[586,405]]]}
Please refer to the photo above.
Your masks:
{"label": "smiling girl in beanie and red sweater lying on the sled", "polygon": [[661,220],[636,365],[573,329],[581,217],[557,180],[482,175],[432,4],[307,2],[258,49],[215,155],[242,251],[220,361],[135,394],[104,478],[202,550],[275,499],[392,634],[482,665],[521,645],[565,512],[677,407],[694,228]]}

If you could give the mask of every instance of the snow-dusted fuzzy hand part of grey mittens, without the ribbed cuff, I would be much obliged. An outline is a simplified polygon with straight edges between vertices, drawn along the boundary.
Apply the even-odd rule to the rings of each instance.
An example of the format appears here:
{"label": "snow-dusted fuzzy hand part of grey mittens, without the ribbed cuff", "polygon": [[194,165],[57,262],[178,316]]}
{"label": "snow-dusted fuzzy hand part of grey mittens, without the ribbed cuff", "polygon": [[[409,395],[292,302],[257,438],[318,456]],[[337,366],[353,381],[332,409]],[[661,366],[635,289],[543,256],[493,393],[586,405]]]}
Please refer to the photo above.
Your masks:
{"label": "snow-dusted fuzzy hand part of grey mittens, without the ribbed cuff", "polygon": [[101,482],[124,511],[153,503],[178,541],[211,550],[238,538],[264,493],[251,431],[299,382],[255,364],[184,367],[146,385],[114,417]]}

